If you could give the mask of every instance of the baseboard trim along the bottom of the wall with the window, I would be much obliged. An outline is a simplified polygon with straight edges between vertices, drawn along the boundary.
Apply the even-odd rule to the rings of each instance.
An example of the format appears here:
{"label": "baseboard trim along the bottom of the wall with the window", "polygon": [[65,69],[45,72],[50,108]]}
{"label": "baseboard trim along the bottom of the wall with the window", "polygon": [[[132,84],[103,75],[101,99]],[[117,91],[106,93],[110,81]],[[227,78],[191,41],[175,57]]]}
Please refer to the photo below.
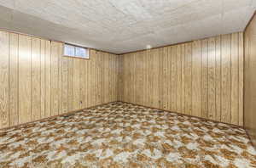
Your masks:
{"label": "baseboard trim along the bottom of the wall with the window", "polygon": [[[111,104],[111,103],[115,103],[115,102],[118,102],[118,101],[108,102],[106,104]],[[90,107],[84,108],[84,109],[96,108],[96,107],[101,106],[101,105],[105,105],[105,104],[97,104],[97,105],[90,106]],[[33,122],[51,120],[51,119],[54,119],[56,117],[60,117],[60,116],[63,116],[63,115],[70,115],[70,114],[73,114],[73,113],[77,113],[77,112],[83,111],[84,109],[75,109],[75,110],[72,110],[72,111],[68,111],[66,113],[62,113],[61,115],[53,115],[53,116],[49,116],[49,117],[46,117],[46,118],[43,118],[43,119],[39,119],[39,120],[32,120],[32,121],[21,123],[21,124],[15,125],[15,126],[6,126],[6,127],[3,127],[3,128],[0,128],[0,132],[6,132],[8,129],[15,128],[15,127],[22,128],[22,126],[27,126],[29,124],[32,124]]]}

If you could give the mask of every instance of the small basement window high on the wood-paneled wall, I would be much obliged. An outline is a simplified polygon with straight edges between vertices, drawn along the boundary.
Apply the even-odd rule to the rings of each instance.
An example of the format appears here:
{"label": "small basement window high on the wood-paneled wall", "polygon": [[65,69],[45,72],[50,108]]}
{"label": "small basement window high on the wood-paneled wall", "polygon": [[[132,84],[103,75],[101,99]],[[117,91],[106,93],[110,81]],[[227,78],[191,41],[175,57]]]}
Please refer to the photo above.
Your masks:
{"label": "small basement window high on the wood-paneled wall", "polygon": [[89,49],[74,46],[72,44],[65,44],[64,56],[81,58],[81,59],[89,59]]}

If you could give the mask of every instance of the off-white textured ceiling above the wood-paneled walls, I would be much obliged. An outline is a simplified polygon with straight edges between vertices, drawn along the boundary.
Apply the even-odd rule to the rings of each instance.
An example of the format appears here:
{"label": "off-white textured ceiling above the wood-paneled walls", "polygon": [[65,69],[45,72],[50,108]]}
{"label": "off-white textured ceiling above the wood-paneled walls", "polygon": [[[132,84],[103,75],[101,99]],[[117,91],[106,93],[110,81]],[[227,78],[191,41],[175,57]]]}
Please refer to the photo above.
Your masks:
{"label": "off-white textured ceiling above the wood-paneled walls", "polygon": [[0,28],[125,53],[243,31],[256,0],[0,0]]}

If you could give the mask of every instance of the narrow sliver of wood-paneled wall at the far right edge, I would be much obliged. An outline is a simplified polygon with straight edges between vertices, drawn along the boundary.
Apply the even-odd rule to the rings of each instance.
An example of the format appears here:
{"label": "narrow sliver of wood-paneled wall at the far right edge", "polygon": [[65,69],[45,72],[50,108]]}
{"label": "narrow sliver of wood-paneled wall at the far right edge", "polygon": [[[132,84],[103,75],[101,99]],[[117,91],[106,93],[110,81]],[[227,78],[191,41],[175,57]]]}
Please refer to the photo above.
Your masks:
{"label": "narrow sliver of wood-paneled wall at the far right edge", "polygon": [[[256,13],[255,13],[256,14]],[[244,126],[256,148],[256,15],[245,31]]]}

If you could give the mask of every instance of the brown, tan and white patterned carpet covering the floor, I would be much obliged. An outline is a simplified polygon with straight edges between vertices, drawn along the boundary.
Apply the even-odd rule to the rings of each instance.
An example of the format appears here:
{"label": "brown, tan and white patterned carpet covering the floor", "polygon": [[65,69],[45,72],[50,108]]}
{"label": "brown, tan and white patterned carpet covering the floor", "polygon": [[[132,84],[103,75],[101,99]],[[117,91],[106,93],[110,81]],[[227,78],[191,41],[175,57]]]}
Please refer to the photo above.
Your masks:
{"label": "brown, tan and white patterned carpet covering the floor", "polygon": [[0,167],[256,167],[241,128],[110,103],[0,133]]}

